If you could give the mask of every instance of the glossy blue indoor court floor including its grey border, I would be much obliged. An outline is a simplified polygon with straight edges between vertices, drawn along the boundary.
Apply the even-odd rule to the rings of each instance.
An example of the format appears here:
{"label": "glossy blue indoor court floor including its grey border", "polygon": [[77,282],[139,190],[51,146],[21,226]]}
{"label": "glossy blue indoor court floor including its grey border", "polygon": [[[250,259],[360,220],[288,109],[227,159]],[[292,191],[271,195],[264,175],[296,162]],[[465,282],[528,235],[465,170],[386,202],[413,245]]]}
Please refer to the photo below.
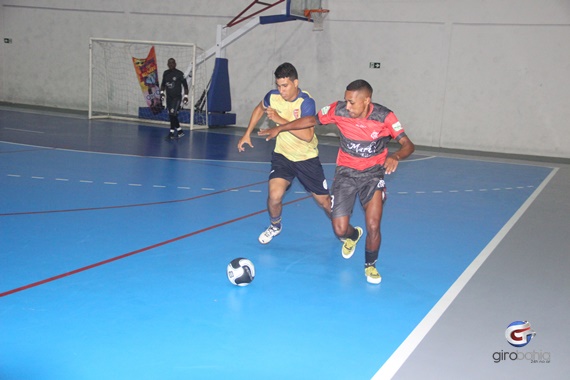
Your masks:
{"label": "glossy blue indoor court floor including its grey border", "polygon": [[[257,241],[273,142],[167,131],[0,107],[0,379],[567,376],[567,163],[418,149],[387,176],[372,285],[298,182]],[[505,359],[522,319],[549,363]]]}

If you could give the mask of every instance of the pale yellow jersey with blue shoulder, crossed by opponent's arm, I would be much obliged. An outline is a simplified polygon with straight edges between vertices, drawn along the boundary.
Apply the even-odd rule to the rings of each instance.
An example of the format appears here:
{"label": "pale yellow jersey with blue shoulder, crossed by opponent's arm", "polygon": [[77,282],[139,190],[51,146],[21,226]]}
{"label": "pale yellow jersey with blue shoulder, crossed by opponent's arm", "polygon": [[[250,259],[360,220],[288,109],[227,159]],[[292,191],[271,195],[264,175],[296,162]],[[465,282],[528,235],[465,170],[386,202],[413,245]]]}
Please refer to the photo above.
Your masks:
{"label": "pale yellow jersey with blue shoulder, crossed by opponent's arm", "polygon": [[[271,90],[263,98],[263,106],[271,107],[279,116],[287,121],[293,121],[303,116],[316,114],[315,100],[308,92],[299,89],[299,95],[293,101],[283,99],[279,90]],[[284,155],[291,161],[304,161],[317,157],[319,150],[317,135],[309,142],[301,140],[291,132],[282,132],[275,140],[275,152]]]}

